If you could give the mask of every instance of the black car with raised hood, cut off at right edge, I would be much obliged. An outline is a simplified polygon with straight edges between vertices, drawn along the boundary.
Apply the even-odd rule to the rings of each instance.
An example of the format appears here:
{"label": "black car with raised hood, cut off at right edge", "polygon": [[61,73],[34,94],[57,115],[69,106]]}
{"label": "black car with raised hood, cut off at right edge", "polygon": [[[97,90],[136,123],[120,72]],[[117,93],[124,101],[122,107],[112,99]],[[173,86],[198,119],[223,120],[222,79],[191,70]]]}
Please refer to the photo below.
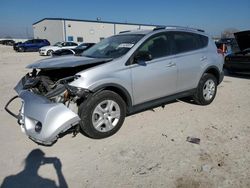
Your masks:
{"label": "black car with raised hood, cut off at right edge", "polygon": [[250,72],[250,30],[234,34],[239,51],[225,57],[224,68],[229,73]]}

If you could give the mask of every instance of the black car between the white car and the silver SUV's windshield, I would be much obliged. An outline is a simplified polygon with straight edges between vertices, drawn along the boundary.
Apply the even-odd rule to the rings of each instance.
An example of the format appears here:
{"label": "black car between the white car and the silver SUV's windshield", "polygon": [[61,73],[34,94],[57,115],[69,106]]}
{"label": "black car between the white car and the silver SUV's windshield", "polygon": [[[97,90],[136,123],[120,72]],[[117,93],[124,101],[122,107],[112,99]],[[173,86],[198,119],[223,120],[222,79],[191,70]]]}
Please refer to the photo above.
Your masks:
{"label": "black car between the white car and the silver SUV's windshield", "polygon": [[56,50],[55,52],[53,52],[53,56],[63,56],[63,55],[79,55],[82,52],[84,52],[85,50],[89,49],[90,47],[92,47],[93,45],[95,45],[95,43],[82,43],[79,46],[77,46],[76,48],[73,49],[60,49],[60,50]]}

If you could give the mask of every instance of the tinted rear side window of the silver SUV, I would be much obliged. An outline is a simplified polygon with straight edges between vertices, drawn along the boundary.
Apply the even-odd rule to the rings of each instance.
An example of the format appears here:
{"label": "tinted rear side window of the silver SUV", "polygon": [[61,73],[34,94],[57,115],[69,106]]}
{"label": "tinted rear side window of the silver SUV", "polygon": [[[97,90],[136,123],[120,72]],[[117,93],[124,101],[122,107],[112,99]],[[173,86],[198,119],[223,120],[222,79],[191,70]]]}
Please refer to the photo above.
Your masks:
{"label": "tinted rear side window of the silver SUV", "polygon": [[208,37],[188,32],[174,32],[173,41],[175,53],[189,52],[204,48],[208,44]]}

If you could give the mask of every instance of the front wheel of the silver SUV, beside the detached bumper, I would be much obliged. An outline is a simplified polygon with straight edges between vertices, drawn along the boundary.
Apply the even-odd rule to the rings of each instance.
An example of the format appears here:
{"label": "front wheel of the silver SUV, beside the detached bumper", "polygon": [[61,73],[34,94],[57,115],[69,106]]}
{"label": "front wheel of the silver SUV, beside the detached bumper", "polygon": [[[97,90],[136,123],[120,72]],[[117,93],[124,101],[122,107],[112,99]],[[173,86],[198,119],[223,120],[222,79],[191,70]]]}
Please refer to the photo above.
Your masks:
{"label": "front wheel of the silver SUV, beside the detached bumper", "polygon": [[89,137],[101,139],[115,134],[126,116],[126,104],[115,92],[104,90],[79,106],[80,127]]}

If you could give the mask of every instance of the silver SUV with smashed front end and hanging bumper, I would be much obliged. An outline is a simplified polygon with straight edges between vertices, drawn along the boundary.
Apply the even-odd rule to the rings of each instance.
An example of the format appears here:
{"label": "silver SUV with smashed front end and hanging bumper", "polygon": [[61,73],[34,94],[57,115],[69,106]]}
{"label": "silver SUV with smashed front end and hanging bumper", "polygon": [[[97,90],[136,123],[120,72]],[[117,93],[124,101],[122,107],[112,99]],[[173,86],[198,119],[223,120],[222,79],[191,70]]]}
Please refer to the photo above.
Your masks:
{"label": "silver SUV with smashed front end and hanging bumper", "polygon": [[[33,141],[52,145],[80,130],[91,138],[116,133],[126,116],[193,96],[210,104],[223,79],[223,57],[204,31],[164,27],[123,32],[80,56],[49,58],[15,87],[6,110]],[[11,101],[21,98],[16,115]]]}

